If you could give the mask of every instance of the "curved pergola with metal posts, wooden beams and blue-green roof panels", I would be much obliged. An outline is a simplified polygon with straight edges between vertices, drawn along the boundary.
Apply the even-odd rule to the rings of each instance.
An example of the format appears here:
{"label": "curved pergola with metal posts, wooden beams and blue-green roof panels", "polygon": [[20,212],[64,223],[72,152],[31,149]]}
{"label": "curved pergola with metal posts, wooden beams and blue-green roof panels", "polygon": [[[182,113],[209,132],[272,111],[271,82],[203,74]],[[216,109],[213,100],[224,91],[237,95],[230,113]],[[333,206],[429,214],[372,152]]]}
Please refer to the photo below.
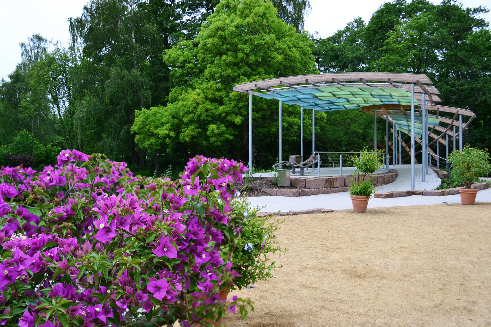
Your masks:
{"label": "curved pergola with metal posts, wooden beams and blue-green roof panels", "polygon": [[[300,106],[300,155],[302,157],[304,108],[312,109],[312,154],[315,152],[315,111],[361,108],[364,112],[374,115],[374,149],[377,149],[378,144],[377,117],[385,119],[385,150],[389,152],[388,125],[391,123],[394,164],[397,161],[395,155],[397,140],[399,140],[399,149],[401,149],[400,132],[403,131],[411,137],[410,150],[404,142],[402,143],[411,156],[411,188],[414,189],[415,142],[422,145],[423,169],[428,173],[428,152],[435,157],[439,156],[439,147],[437,147],[437,153],[434,153],[429,146],[434,142],[445,145],[448,156],[448,135],[450,135],[453,137],[454,149],[455,140],[458,138],[459,148],[462,150],[462,131],[476,116],[470,110],[436,105],[435,101],[441,102],[438,97],[440,93],[432,84],[426,75],[404,73],[313,74],[237,84],[232,88],[233,91],[249,95],[249,170],[252,169],[252,96],[255,95],[279,101],[280,161],[282,160],[282,103]],[[429,111],[432,111],[433,114],[430,114]],[[440,112],[454,115],[452,119],[449,119],[441,117]],[[459,116],[459,122],[456,122],[457,116]],[[469,118],[464,126],[462,116]],[[440,126],[440,123],[448,126]],[[456,127],[459,127],[458,133],[456,133]],[[397,136],[398,131],[399,136]],[[435,131],[441,133],[437,135]],[[429,138],[433,140],[430,142]],[[424,176],[425,174],[423,178]]]}

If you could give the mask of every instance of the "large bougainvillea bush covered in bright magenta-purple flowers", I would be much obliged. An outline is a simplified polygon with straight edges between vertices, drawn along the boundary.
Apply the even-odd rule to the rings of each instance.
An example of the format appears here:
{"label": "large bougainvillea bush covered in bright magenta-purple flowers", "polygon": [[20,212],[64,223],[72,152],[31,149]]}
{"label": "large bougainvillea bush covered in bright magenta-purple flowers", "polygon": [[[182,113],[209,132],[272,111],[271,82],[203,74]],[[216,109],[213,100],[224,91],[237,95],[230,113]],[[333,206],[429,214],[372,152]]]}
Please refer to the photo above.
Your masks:
{"label": "large bougainvillea bush covered in bright magenta-purple flowers", "polygon": [[98,153],[57,160],[0,170],[1,325],[208,326],[253,310],[217,295],[240,276],[230,257],[246,218],[230,203],[242,163],[196,156],[172,181]]}

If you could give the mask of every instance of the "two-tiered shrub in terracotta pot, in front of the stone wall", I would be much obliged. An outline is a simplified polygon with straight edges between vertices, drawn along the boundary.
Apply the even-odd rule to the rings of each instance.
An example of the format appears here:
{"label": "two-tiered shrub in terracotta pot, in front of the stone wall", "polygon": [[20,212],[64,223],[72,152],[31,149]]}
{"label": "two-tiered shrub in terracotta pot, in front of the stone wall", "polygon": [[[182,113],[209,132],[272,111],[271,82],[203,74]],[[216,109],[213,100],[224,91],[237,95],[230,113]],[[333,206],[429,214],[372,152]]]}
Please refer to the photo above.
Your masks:
{"label": "two-tiered shrub in terracotta pot, in front of the stone wall", "polygon": [[373,152],[363,148],[359,156],[352,155],[349,160],[356,167],[350,179],[350,198],[353,211],[366,212],[368,200],[375,192],[372,179],[366,177],[382,167],[382,157],[379,151]]}

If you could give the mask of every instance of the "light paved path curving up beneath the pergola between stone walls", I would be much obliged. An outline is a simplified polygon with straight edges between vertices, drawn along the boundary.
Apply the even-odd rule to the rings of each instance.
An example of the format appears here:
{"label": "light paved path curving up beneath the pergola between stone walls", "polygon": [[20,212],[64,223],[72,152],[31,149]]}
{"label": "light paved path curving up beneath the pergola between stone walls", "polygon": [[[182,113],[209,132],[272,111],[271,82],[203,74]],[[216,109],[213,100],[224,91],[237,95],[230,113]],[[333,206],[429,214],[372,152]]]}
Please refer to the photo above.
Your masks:
{"label": "light paved path curving up beneath the pergola between stone walls", "polygon": [[[415,190],[433,190],[440,186],[441,179],[433,170],[429,170],[430,174],[426,175],[426,181],[422,181],[423,172],[421,165],[414,165],[414,189]],[[390,169],[396,169],[399,172],[397,179],[387,185],[383,185],[377,188],[377,192],[392,192],[392,191],[406,191],[411,189],[411,165],[396,165],[390,166]]]}

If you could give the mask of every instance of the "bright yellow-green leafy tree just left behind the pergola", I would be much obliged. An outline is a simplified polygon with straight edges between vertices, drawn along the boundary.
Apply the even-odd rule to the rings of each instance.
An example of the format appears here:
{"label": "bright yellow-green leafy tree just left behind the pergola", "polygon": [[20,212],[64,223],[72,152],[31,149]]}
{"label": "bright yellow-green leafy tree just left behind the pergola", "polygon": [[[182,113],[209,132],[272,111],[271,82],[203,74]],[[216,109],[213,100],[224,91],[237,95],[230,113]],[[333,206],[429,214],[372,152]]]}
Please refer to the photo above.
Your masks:
{"label": "bright yellow-green leafy tree just left behind the pergola", "polygon": [[[195,39],[166,51],[164,61],[180,86],[172,90],[166,106],[136,112],[136,142],[146,148],[163,145],[183,157],[199,152],[242,158],[247,96],[230,88],[250,80],[315,72],[311,46],[307,34],[282,22],[269,1],[220,1]],[[298,108],[291,110],[298,115]],[[262,132],[266,127],[268,134],[277,122],[275,112],[277,101],[255,99],[253,119],[262,135],[258,143],[269,139]]]}

